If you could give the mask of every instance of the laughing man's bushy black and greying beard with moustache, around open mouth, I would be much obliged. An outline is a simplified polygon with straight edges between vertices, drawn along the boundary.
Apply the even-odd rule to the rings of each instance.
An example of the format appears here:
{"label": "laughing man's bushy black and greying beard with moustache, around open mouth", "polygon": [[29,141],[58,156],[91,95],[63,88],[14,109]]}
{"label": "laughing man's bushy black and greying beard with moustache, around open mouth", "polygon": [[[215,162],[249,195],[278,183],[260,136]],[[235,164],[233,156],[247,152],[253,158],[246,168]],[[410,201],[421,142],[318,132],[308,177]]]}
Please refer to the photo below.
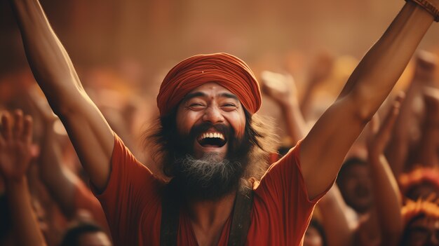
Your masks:
{"label": "laughing man's bushy black and greying beard with moustache, around open mouth", "polygon": [[[215,128],[227,138],[227,156],[217,158],[215,153],[206,153],[203,158],[193,157],[196,137],[210,128]],[[184,198],[190,200],[217,200],[236,191],[248,166],[252,144],[248,137],[238,139],[233,128],[226,125],[203,123],[191,129],[189,135],[178,136],[173,141],[175,177],[171,181]]]}

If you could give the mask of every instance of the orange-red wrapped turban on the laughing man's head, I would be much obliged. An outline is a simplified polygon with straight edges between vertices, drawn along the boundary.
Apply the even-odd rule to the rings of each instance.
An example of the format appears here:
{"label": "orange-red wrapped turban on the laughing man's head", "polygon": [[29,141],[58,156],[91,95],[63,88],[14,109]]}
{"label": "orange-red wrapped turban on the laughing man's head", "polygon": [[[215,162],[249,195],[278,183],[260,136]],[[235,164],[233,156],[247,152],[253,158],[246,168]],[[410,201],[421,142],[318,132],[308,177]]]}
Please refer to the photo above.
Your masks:
{"label": "orange-red wrapped turban on the laughing man's head", "polygon": [[234,93],[250,114],[261,107],[259,85],[247,64],[233,55],[215,53],[189,57],[166,74],[157,95],[160,115],[168,114],[187,93],[208,82]]}

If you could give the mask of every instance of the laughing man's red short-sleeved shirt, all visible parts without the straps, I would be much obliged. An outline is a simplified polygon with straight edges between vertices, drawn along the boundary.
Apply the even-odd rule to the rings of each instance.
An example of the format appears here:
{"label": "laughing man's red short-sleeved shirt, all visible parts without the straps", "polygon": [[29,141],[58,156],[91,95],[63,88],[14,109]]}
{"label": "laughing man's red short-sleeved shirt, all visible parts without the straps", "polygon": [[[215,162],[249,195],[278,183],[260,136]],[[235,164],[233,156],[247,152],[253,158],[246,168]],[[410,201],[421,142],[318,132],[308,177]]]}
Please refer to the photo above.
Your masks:
{"label": "laughing man's red short-sleeved shirt, all visible parts without the straps", "polygon": [[[254,189],[247,245],[301,245],[311,213],[321,194],[308,199],[299,165],[297,144],[270,166]],[[104,192],[97,194],[115,245],[160,245],[161,196],[157,179],[115,137],[112,171]],[[218,245],[227,245],[231,218]],[[198,245],[186,212],[180,213],[178,245]]]}

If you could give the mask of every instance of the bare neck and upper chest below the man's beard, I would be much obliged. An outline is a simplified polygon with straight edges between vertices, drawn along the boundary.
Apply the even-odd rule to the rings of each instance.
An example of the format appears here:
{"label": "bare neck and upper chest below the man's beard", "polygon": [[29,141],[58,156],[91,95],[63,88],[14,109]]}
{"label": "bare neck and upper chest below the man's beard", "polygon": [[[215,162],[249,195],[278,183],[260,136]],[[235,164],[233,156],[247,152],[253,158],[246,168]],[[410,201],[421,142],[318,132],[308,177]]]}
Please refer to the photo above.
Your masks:
{"label": "bare neck and upper chest below the man's beard", "polygon": [[222,228],[234,207],[236,191],[219,200],[190,200],[189,218],[198,245],[217,245]]}

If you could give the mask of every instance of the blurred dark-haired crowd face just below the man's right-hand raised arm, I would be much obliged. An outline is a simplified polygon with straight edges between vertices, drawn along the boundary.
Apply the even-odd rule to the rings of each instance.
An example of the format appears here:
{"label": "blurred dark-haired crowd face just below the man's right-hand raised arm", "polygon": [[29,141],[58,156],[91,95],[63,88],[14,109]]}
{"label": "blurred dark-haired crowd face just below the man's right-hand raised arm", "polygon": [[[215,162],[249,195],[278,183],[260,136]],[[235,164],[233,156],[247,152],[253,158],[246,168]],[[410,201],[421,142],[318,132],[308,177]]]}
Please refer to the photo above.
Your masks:
{"label": "blurred dark-haired crowd face just below the man's right-hand raised arm", "polygon": [[346,204],[358,213],[365,213],[372,205],[372,182],[365,164],[351,164],[340,177],[339,189]]}

